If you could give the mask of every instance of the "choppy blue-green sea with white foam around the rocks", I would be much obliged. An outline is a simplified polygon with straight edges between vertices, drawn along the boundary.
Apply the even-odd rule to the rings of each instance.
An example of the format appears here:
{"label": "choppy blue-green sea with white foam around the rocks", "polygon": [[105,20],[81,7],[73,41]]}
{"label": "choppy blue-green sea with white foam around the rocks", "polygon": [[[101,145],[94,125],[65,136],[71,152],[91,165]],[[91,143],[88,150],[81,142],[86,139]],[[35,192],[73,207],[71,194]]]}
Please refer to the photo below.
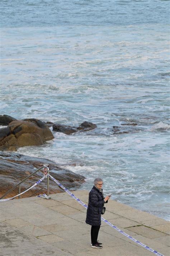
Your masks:
{"label": "choppy blue-green sea with white foam around the rocks", "polygon": [[[0,114],[97,129],[20,148],[169,219],[169,1],[1,1]],[[123,123],[129,133],[113,133]]]}

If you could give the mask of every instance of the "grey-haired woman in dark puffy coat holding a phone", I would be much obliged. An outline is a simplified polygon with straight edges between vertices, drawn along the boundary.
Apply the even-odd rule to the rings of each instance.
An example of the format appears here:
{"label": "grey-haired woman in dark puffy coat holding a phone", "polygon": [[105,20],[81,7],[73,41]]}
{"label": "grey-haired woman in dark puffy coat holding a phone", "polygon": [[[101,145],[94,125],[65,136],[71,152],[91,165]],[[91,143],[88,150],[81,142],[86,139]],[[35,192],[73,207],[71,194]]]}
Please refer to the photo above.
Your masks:
{"label": "grey-haired woman in dark puffy coat holding a phone", "polygon": [[97,241],[98,233],[101,225],[101,211],[103,209],[104,203],[108,202],[109,196],[104,197],[103,180],[96,178],[94,180],[94,186],[89,193],[89,203],[86,215],[86,223],[91,225],[91,247],[93,248],[103,248],[102,243]]}

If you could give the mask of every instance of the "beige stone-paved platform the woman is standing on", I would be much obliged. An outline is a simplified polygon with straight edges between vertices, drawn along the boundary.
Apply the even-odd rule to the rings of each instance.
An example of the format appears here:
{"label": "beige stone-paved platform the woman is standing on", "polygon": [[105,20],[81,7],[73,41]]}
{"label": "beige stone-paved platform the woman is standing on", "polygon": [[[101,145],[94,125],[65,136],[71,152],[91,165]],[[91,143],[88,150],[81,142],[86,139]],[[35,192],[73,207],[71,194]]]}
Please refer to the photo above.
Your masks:
{"label": "beige stone-paved platform the woman is standing on", "polygon": [[[87,190],[73,192],[88,203]],[[103,217],[150,248],[170,255],[170,223],[109,199]],[[86,209],[67,193],[0,202],[0,256],[149,256],[142,248],[103,221],[99,242],[91,248]]]}

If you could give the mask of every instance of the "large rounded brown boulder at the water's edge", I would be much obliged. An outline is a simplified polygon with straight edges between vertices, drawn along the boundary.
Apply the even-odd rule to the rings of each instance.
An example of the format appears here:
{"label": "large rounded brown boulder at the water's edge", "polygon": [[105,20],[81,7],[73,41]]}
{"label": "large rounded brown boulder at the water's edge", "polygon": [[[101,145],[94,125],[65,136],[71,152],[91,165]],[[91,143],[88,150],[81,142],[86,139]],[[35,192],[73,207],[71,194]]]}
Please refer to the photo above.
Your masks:
{"label": "large rounded brown boulder at the water's edge", "polygon": [[0,148],[16,151],[18,147],[42,145],[53,138],[51,130],[40,120],[15,120],[0,129]]}

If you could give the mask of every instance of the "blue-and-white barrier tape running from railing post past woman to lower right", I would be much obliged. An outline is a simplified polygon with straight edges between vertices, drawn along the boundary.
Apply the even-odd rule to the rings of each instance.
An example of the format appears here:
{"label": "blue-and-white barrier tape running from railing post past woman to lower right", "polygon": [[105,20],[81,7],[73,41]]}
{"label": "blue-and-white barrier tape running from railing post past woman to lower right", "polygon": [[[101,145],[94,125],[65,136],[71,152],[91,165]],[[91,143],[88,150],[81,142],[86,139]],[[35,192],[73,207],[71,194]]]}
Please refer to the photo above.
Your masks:
{"label": "blue-and-white barrier tape running from railing post past woman to lower right", "polygon": [[[67,188],[65,188],[62,184],[60,184],[60,182],[58,180],[56,180],[55,178],[53,178],[51,175],[49,175],[49,177],[55,181],[63,190],[65,190],[72,198],[74,198],[77,202],[79,202],[82,206],[84,206],[85,208],[88,208],[88,206],[83,203],[79,198],[77,198],[73,193],[71,193]],[[114,228],[115,230],[117,230],[118,232],[120,232],[122,235],[125,235],[127,238],[131,239],[133,242],[139,244],[140,246],[142,246],[143,248],[147,249],[150,252],[155,253],[156,255],[159,256],[164,256],[163,254],[151,249],[149,246],[146,246],[145,244],[141,243],[140,241],[136,240],[135,238],[131,237],[130,235],[126,234],[125,232],[123,232],[121,229],[117,228],[115,225],[113,225],[112,223],[110,223],[108,220],[105,220],[103,217],[101,217],[101,220],[103,220],[106,224],[108,224],[109,226],[111,226],[112,228]]]}

